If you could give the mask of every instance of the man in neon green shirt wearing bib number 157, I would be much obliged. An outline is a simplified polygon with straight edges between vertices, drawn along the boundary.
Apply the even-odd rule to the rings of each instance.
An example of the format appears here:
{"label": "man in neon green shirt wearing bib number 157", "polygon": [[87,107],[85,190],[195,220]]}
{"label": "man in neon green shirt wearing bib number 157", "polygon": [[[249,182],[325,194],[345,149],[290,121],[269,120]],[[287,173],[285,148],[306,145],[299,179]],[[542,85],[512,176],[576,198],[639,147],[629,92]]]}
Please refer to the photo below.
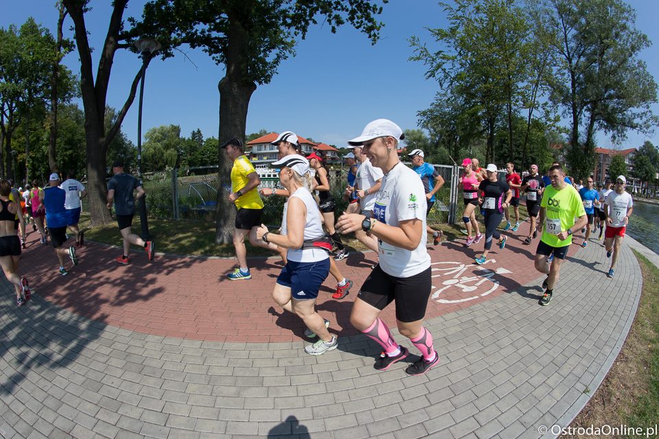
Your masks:
{"label": "man in neon green shirt wearing bib number 157", "polygon": [[[553,165],[548,174],[551,185],[544,189],[540,202],[537,231],[542,233],[535,250],[535,270],[547,275],[540,305],[549,305],[561,265],[572,244],[572,234],[586,226],[588,219],[577,189],[565,181],[561,165]],[[577,221],[575,222],[575,217]],[[550,257],[553,259],[550,259]]]}

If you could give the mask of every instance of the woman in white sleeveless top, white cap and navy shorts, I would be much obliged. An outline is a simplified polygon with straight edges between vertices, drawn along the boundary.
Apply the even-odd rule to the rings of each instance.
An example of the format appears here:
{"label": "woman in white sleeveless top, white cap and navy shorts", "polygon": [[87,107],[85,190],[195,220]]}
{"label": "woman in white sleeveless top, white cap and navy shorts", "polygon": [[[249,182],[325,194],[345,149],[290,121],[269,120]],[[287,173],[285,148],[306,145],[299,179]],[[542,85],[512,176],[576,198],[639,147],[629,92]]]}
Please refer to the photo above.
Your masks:
{"label": "woman in white sleeveless top, white cap and navy shorts", "polygon": [[296,313],[309,331],[319,337],[305,347],[305,353],[321,355],[338,346],[337,337],[327,331],[327,320],[316,312],[318,290],[329,273],[332,241],[325,237],[321,213],[310,192],[312,178],[307,159],[291,154],[273,165],[281,167],[279,181],[290,196],[284,204],[281,235],[269,233],[261,224],[257,238],[288,249],[288,262],[277,278],[273,299],[286,311]]}

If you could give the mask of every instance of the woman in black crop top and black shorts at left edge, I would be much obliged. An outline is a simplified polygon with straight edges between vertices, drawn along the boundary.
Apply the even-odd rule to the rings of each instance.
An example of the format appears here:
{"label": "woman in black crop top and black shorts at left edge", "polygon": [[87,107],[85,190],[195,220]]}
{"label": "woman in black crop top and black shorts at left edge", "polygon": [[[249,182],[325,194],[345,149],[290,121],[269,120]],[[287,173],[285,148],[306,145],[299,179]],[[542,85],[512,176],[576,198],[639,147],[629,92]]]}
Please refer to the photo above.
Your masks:
{"label": "woman in black crop top and black shorts at left edge", "polygon": [[19,260],[21,256],[21,240],[16,235],[16,215],[23,221],[21,205],[16,200],[10,200],[12,186],[7,180],[0,180],[0,265],[7,280],[14,284],[16,305],[19,307],[30,300],[30,288],[27,278],[19,276]]}

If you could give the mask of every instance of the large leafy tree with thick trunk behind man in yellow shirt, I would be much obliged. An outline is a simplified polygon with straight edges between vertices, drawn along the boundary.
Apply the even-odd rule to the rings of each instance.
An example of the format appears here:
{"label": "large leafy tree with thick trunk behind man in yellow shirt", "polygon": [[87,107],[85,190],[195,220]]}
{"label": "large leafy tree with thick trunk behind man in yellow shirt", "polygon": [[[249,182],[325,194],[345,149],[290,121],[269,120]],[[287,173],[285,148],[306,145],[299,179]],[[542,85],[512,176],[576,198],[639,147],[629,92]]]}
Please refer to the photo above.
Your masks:
{"label": "large leafy tree with thick trunk behind man in yellow shirt", "polygon": [[[382,7],[367,0],[153,0],[147,3],[137,29],[166,34],[178,43],[203,47],[225,67],[218,83],[218,139],[244,139],[247,109],[257,86],[268,84],[279,64],[294,55],[296,38],[305,38],[321,19],[332,33],[350,23],[373,43],[380,27],[375,17]],[[381,0],[386,3],[386,0]],[[218,154],[220,182],[229,183],[229,167]],[[229,244],[235,209],[218,191],[216,242]]]}

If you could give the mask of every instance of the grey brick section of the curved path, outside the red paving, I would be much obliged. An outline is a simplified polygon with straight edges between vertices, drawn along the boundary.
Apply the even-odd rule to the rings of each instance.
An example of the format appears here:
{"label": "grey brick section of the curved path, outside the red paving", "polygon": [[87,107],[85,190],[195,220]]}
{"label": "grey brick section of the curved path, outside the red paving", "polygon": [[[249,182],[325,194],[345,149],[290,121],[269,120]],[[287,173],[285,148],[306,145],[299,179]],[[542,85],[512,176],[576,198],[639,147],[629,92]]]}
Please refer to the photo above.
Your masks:
{"label": "grey brick section of the curved path, outside the red paving", "polygon": [[634,318],[642,279],[629,246],[616,278],[607,263],[592,241],[568,257],[548,307],[537,305],[537,278],[431,318],[441,363],[422,377],[406,364],[373,370],[379,349],[363,335],[319,357],[301,341],[166,337],[82,317],[38,291],[16,308],[4,281],[0,436],[538,438],[577,415]]}

